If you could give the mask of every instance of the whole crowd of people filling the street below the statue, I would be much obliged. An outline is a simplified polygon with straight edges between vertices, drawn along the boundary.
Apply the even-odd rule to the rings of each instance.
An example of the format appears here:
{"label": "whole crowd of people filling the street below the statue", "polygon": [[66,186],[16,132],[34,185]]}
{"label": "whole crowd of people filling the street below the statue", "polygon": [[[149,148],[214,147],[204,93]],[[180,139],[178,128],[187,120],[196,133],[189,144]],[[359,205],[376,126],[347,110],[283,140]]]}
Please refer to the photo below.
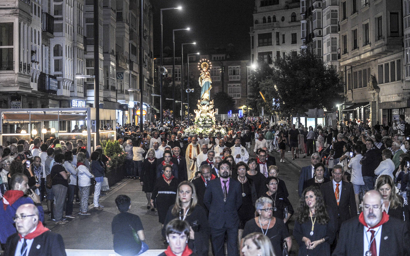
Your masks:
{"label": "whole crowd of people filling the street below the statue", "polygon": [[[391,126],[348,120],[315,128],[228,120],[218,124],[225,133],[205,136],[184,136],[184,123],[146,122],[142,129],[117,123],[116,137],[126,153],[126,178],[139,179],[147,209],[158,214],[169,245],[162,255],[286,255],[291,219],[298,255],[385,255],[388,244],[395,245],[391,255],[406,255],[410,138],[404,119]],[[1,147],[0,242],[6,251],[22,249],[24,236],[31,237],[17,225],[26,217],[42,231],[44,214],[66,224],[66,218],[91,214],[90,193],[93,209],[103,210],[108,159],[100,146],[89,154],[85,143],[34,138]],[[286,151],[311,163],[301,168],[295,210],[271,154],[285,163]],[[114,250],[138,255],[148,249],[143,224],[128,213],[129,197],[115,202]],[[23,241],[13,235],[14,223]],[[61,237],[53,239],[64,247]]]}

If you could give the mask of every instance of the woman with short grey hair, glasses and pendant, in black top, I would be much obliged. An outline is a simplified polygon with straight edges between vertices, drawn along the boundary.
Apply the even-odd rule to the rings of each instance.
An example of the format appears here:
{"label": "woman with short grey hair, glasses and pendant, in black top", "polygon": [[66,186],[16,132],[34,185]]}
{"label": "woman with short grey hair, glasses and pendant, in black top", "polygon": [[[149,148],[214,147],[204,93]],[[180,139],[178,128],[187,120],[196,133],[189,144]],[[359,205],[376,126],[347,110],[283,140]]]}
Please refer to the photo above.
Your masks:
{"label": "woman with short grey hair, glasses and pendant, in black top", "polygon": [[256,200],[255,208],[258,216],[246,222],[240,248],[242,248],[244,237],[250,233],[262,231],[271,240],[275,255],[282,255],[283,240],[286,241],[287,248],[290,250],[292,238],[285,223],[272,215],[273,201],[269,197],[261,197]]}

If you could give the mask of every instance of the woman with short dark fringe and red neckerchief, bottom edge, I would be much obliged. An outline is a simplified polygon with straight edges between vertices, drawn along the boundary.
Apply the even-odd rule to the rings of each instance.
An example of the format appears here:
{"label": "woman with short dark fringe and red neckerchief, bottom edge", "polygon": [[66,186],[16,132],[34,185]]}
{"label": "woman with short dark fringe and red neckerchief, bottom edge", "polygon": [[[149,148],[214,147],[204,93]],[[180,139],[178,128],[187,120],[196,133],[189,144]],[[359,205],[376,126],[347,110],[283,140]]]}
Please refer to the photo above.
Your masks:
{"label": "woman with short dark fringe and red neckerchief, bottom edge", "polygon": [[188,247],[189,224],[185,220],[174,219],[166,225],[166,241],[168,248],[158,256],[193,256]]}

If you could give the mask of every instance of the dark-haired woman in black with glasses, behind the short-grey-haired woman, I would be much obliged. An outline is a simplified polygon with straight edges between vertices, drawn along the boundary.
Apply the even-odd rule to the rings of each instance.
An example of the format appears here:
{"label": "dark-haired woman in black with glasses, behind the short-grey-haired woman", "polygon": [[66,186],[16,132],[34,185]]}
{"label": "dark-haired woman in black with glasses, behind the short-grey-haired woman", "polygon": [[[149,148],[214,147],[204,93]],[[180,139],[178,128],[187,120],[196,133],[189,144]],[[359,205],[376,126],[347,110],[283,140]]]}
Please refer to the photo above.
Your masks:
{"label": "dark-haired woman in black with glasses, behind the short-grey-haired woman", "polygon": [[268,177],[266,179],[266,187],[268,188],[268,192],[266,192],[265,197],[269,197],[273,201],[272,215],[283,220],[286,224],[294,211],[289,199],[287,199],[287,197],[285,197],[285,195],[278,190],[278,184],[278,178],[273,176]]}

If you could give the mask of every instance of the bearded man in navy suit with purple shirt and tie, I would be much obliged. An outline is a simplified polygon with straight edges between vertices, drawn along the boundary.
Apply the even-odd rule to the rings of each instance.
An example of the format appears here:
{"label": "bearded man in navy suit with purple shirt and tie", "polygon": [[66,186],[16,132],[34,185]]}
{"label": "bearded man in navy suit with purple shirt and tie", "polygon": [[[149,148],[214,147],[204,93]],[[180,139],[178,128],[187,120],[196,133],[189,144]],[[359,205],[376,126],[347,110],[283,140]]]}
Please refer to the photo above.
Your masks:
{"label": "bearded man in navy suit with purple shirt and tie", "polygon": [[242,190],[239,181],[230,179],[231,169],[230,162],[221,161],[220,177],[209,181],[205,189],[204,204],[209,211],[208,221],[215,256],[224,255],[225,233],[229,255],[238,255],[238,210],[242,205]]}

